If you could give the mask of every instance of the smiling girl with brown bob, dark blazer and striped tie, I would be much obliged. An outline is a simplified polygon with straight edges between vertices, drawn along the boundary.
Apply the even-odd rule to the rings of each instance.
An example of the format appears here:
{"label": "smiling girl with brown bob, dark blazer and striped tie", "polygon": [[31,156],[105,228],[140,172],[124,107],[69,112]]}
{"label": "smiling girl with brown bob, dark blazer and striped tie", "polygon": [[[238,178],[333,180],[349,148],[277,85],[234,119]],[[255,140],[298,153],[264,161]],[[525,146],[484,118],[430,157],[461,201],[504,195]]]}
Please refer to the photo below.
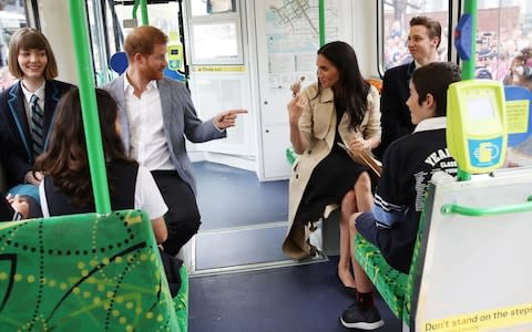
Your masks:
{"label": "smiling girl with brown bob, dark blazer and striped tie", "polygon": [[[72,85],[53,80],[58,65],[47,38],[33,28],[21,28],[9,43],[9,70],[19,81],[0,94],[1,135],[8,142],[2,158],[10,194],[29,195],[39,201],[40,172],[32,172],[37,156],[47,148],[55,106]],[[42,121],[32,125],[32,96],[37,95]],[[32,133],[33,131],[33,133]],[[35,138],[39,135],[40,138]],[[35,148],[40,139],[41,148]],[[3,148],[3,147],[2,147]]]}

